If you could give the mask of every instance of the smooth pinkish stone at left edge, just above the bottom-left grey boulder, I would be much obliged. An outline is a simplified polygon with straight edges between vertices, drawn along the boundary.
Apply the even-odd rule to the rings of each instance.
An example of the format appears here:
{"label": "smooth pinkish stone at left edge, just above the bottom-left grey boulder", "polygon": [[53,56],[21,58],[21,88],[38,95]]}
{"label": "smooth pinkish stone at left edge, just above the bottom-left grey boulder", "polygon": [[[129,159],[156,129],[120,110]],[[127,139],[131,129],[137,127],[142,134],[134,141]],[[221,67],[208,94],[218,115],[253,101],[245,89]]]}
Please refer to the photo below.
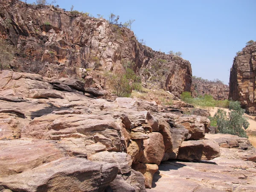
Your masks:
{"label": "smooth pinkish stone at left edge, just above the bottom-left grey boulder", "polygon": [[12,175],[41,166],[67,152],[59,145],[45,140],[22,139],[0,141],[0,175]]}

